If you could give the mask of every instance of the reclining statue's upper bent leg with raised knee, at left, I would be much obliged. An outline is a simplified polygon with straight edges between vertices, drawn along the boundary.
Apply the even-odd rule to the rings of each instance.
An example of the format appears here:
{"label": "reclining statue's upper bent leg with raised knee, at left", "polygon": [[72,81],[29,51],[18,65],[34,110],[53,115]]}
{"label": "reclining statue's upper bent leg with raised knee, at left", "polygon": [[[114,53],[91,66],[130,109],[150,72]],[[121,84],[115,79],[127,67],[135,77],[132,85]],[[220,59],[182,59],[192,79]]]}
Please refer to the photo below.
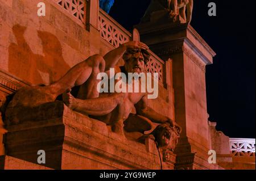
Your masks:
{"label": "reclining statue's upper bent leg with raised knee, at left", "polygon": [[[74,86],[84,84],[92,74],[95,76],[94,74],[104,69],[104,59],[99,55],[91,56],[85,61],[73,66],[59,81],[52,85],[24,87],[19,90],[14,95],[8,107],[35,107],[40,104],[54,102],[57,96],[63,94],[63,92]],[[88,89],[92,90],[92,86],[89,86]]]}

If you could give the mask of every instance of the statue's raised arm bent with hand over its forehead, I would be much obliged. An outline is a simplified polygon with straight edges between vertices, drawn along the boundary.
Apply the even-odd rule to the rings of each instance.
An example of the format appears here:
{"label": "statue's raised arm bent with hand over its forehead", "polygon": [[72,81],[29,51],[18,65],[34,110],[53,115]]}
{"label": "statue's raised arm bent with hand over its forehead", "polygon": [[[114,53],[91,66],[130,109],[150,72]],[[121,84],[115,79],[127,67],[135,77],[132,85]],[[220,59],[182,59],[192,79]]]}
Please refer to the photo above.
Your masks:
{"label": "statue's raised arm bent with hand over its forehead", "polygon": [[127,43],[124,43],[118,48],[115,48],[105,54],[105,71],[108,71],[110,68],[114,68],[114,66],[117,64],[118,60],[123,56],[126,50],[138,48],[145,50],[148,49],[147,45],[140,41],[128,41]]}

